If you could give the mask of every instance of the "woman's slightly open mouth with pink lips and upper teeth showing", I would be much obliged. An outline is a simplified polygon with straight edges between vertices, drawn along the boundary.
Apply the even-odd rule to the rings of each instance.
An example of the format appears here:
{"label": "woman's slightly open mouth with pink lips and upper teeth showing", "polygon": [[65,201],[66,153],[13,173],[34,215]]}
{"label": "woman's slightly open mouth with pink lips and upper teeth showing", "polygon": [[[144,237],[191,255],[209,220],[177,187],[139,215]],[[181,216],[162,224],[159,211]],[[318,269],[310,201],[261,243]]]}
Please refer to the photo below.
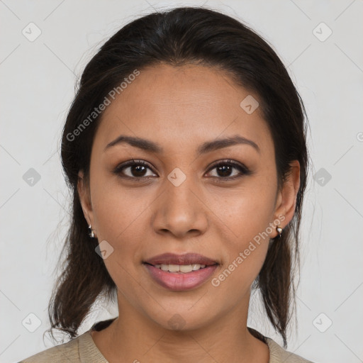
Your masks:
{"label": "woman's slightly open mouth with pink lips and upper teeth showing", "polygon": [[218,262],[213,259],[194,253],[166,253],[147,259],[143,264],[157,284],[172,291],[196,289],[218,267]]}

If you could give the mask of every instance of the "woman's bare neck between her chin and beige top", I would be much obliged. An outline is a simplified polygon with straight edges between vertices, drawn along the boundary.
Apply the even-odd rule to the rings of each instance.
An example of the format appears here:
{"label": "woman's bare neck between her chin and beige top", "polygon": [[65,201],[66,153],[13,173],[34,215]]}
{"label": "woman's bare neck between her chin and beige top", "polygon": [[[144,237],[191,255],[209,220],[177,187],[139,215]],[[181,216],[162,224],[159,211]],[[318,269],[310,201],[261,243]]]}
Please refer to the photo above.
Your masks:
{"label": "woman's bare neck between her chin and beige top", "polygon": [[[92,337],[108,362],[269,362],[267,345],[247,330],[248,305],[209,325],[163,328],[118,298],[118,318]],[[240,319],[236,319],[239,316]]]}

